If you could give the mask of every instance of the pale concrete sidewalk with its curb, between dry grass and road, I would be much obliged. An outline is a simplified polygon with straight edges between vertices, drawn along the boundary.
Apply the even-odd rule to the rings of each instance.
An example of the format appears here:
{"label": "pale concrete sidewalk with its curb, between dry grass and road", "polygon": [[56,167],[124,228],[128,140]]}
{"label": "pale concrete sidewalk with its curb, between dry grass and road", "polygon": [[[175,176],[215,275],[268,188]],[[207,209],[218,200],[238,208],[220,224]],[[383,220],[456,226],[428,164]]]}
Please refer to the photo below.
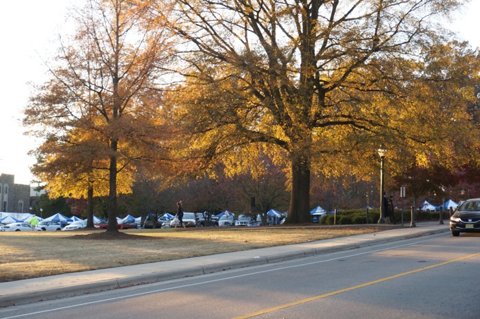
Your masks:
{"label": "pale concrete sidewalk with its curb, between dry grass and road", "polygon": [[[405,224],[407,225],[407,224]],[[75,272],[36,279],[0,283],[0,307],[34,303],[100,292],[103,290],[167,281],[186,276],[220,272],[233,268],[275,263],[287,259],[320,255],[449,231],[448,222],[418,222],[416,227],[399,227],[389,231],[326,239],[304,244],[228,252],[158,263],[145,263],[104,270]]]}

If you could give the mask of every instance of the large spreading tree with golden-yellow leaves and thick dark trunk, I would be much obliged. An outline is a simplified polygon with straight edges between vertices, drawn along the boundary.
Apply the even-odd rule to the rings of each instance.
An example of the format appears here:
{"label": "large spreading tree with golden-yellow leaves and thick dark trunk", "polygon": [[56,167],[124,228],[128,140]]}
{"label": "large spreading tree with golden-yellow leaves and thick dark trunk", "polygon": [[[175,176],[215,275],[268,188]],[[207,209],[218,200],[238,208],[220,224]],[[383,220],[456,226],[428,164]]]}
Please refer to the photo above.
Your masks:
{"label": "large spreading tree with golden-yellow leaves and thick dark trunk", "polygon": [[[443,40],[433,19],[462,1],[175,2],[170,26],[185,39],[178,71],[187,80],[172,102],[184,108],[190,156],[234,162],[252,143],[286,154],[289,223],[310,221],[312,167],[361,173],[378,163],[380,143],[399,145],[397,158],[428,154],[442,139],[434,127],[452,122],[437,117],[437,97],[419,97],[430,76],[422,62]],[[448,115],[464,118],[459,104]]]}

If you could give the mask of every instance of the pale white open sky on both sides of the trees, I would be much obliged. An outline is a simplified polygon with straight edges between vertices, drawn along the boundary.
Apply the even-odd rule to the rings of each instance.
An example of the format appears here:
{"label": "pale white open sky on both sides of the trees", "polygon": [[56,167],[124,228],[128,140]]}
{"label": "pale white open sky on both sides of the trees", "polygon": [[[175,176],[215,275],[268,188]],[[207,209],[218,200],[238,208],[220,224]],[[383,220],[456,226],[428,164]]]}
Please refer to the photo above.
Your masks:
{"label": "pale white open sky on both sides of the trees", "polygon": [[[37,144],[25,137],[21,126],[23,108],[30,95],[27,82],[41,84],[46,67],[42,58],[57,47],[56,36],[62,33],[67,6],[72,0],[4,1],[0,14],[0,115],[2,139],[0,173],[14,174],[17,184],[33,180],[29,167],[35,158],[28,156]],[[77,1],[79,3],[80,1]],[[451,24],[459,39],[468,40],[472,47],[480,47],[480,1],[472,0],[463,13]]]}

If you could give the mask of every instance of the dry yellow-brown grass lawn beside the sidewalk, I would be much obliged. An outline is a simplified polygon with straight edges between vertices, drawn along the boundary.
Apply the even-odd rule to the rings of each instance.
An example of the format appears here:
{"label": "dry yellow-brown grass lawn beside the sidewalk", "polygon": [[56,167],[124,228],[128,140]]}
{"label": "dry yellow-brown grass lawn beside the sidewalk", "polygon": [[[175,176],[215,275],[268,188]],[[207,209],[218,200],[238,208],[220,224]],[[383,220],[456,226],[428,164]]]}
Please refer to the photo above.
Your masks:
{"label": "dry yellow-brown grass lawn beside the sidewalk", "polygon": [[385,226],[0,233],[0,282],[372,233]]}

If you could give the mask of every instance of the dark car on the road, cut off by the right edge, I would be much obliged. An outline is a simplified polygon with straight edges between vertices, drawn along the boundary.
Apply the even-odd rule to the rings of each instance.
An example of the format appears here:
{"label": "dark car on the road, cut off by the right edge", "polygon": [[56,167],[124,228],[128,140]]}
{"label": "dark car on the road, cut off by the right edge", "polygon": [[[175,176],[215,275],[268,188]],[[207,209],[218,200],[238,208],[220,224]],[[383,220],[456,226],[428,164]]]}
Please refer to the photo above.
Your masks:
{"label": "dark car on the road, cut off by the right edge", "polygon": [[480,233],[480,198],[466,200],[450,217],[450,231],[453,236],[460,233]]}

